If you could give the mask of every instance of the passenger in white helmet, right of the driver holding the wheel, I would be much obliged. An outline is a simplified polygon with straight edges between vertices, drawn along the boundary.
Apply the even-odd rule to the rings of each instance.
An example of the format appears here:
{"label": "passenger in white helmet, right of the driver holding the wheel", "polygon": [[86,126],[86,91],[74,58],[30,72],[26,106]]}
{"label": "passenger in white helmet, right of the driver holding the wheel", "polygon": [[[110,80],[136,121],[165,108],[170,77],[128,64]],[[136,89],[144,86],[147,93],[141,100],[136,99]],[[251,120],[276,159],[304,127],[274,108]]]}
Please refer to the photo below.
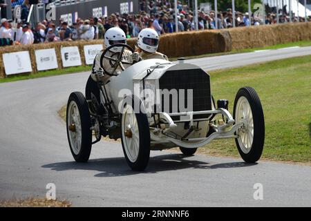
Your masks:
{"label": "passenger in white helmet, right of the driver holding the wheel", "polygon": [[[133,54],[138,54],[143,60],[146,59],[164,59],[169,60],[167,55],[157,52],[159,46],[159,35],[152,28],[144,28],[138,34],[138,42],[136,50]],[[138,57],[133,55],[133,57]]]}

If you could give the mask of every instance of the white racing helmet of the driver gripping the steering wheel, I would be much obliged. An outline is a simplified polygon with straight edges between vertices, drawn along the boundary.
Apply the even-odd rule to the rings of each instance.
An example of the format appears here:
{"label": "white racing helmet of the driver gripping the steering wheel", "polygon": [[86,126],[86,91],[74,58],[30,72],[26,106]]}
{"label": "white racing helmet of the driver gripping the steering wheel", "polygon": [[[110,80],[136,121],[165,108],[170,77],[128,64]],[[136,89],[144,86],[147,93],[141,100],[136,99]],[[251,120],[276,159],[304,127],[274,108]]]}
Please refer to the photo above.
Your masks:
{"label": "white racing helmet of the driver gripping the steering wheel", "polygon": [[[113,27],[106,31],[104,36],[104,45],[106,48],[114,44],[126,44],[126,35],[121,28]],[[114,47],[110,50],[113,52],[121,52],[121,47]]]}

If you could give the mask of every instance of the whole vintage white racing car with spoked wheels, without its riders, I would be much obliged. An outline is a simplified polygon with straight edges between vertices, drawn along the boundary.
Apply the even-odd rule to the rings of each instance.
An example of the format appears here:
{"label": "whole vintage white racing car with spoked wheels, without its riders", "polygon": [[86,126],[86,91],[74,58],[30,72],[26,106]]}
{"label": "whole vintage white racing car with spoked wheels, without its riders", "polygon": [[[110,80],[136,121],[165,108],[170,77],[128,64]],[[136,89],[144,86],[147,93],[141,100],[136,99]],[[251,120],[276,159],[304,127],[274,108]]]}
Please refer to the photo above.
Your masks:
{"label": "whole vintage white racing car with spoked wheels, without its riders", "polygon": [[[126,44],[117,46],[133,51]],[[121,138],[126,162],[133,171],[147,167],[151,150],[179,147],[183,154],[193,155],[198,147],[227,138],[235,139],[245,162],[259,160],[265,123],[254,88],[238,90],[232,116],[227,100],[218,100],[216,106],[209,74],[198,66],[182,60],[173,64],[148,59],[125,69],[128,63],[122,56],[106,56],[110,48],[102,59],[109,59],[115,68],[108,82],[97,82],[100,104],[95,97],[87,101],[80,92],[71,93],[68,99],[67,135],[75,161],[87,162],[92,144],[102,136]],[[117,66],[121,73],[115,73]],[[99,106],[104,109],[100,114]]]}

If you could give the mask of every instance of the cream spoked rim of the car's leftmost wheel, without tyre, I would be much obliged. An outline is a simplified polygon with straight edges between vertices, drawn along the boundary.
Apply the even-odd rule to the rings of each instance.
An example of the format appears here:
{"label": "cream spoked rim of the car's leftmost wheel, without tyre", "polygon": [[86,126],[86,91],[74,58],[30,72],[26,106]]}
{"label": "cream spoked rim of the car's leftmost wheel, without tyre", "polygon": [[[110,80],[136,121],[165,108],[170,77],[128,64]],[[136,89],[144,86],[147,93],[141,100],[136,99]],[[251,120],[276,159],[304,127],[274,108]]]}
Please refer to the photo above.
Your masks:
{"label": "cream spoked rim of the car's leftmost wheel, without tyre", "polygon": [[75,125],[75,131],[71,131],[68,129],[69,141],[71,144],[71,148],[75,155],[78,155],[81,150],[82,143],[82,128],[81,128],[81,119],[79,114],[79,109],[77,108],[77,104],[72,101],[68,106],[68,126]]}

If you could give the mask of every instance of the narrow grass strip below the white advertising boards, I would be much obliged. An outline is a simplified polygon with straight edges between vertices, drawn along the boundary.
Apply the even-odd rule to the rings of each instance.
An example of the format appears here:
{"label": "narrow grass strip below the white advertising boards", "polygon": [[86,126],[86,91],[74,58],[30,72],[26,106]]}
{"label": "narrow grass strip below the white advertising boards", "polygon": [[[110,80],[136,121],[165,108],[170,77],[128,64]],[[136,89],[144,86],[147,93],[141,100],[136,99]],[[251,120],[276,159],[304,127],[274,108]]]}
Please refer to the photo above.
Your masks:
{"label": "narrow grass strip below the white advertising boards", "polygon": [[91,70],[91,66],[77,66],[77,67],[70,67],[70,68],[64,68],[62,70],[46,70],[41,71],[36,74],[23,74],[23,75],[12,75],[6,78],[0,79],[0,83],[4,82],[11,82],[11,81],[20,81],[20,80],[26,80],[26,79],[34,79],[38,77],[49,77],[54,75],[66,75],[70,73],[79,73],[84,71]]}

